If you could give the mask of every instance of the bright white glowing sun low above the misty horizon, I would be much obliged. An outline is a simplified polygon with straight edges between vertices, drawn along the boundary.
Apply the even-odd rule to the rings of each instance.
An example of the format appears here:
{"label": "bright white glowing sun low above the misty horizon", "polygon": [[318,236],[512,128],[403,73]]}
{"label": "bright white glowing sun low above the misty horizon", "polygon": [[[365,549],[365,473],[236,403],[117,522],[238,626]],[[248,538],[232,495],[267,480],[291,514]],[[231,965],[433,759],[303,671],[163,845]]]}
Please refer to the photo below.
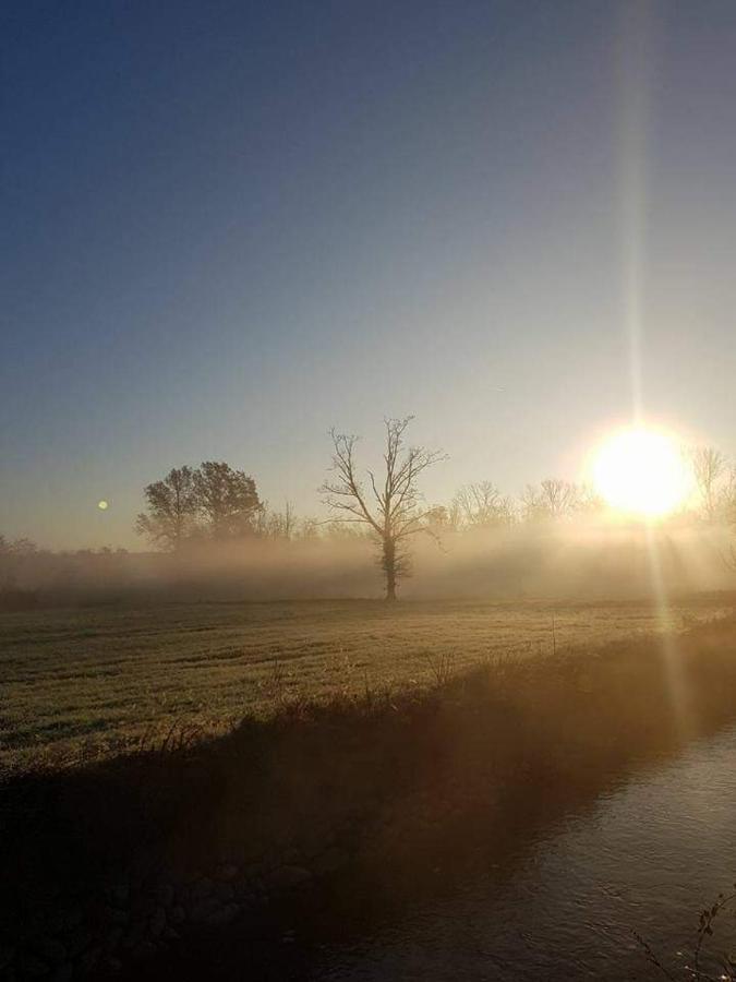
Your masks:
{"label": "bright white glowing sun low above the misty horizon", "polygon": [[677,441],[661,430],[619,430],[593,457],[595,490],[612,508],[657,518],[684,504],[691,474]]}

